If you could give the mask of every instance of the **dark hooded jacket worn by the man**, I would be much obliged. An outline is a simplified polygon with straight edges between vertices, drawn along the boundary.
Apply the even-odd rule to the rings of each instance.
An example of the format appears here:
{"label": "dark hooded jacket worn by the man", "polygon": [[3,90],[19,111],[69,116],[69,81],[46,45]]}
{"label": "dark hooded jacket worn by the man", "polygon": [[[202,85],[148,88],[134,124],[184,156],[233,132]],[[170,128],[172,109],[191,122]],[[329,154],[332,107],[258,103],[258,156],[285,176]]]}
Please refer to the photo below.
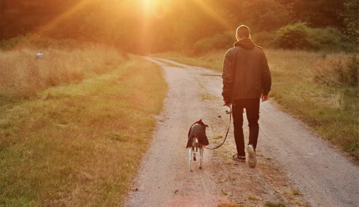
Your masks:
{"label": "dark hooded jacket worn by the man", "polygon": [[[234,44],[224,57],[222,96],[226,103],[260,98],[271,90],[271,72],[264,51],[251,39]],[[233,81],[234,80],[234,81]]]}

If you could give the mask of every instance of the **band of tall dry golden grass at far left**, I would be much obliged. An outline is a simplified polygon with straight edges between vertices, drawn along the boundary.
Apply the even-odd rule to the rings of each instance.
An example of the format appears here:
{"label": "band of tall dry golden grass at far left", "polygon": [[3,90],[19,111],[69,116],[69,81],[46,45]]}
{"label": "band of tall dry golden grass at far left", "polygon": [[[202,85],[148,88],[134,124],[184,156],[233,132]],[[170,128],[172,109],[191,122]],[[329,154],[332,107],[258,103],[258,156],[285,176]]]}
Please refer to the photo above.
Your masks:
{"label": "band of tall dry golden grass at far left", "polygon": [[44,88],[107,72],[124,59],[115,49],[96,45],[47,48],[41,51],[42,58],[35,56],[38,52],[29,48],[0,51],[1,94],[28,98]]}

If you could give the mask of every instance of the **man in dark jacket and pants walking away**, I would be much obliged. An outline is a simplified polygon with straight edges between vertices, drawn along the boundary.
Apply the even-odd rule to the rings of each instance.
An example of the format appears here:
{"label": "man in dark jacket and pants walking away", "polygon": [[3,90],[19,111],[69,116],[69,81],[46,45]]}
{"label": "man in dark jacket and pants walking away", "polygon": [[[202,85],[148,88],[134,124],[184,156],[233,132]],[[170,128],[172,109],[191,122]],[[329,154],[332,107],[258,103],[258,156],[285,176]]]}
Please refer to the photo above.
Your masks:
{"label": "man in dark jacket and pants walking away", "polygon": [[237,42],[224,57],[223,90],[224,104],[233,104],[233,126],[237,154],[236,161],[245,161],[243,135],[243,109],[249,122],[248,164],[257,165],[255,148],[257,147],[260,119],[260,99],[266,101],[271,90],[271,72],[264,51],[251,40],[247,26],[239,26],[236,32]]}

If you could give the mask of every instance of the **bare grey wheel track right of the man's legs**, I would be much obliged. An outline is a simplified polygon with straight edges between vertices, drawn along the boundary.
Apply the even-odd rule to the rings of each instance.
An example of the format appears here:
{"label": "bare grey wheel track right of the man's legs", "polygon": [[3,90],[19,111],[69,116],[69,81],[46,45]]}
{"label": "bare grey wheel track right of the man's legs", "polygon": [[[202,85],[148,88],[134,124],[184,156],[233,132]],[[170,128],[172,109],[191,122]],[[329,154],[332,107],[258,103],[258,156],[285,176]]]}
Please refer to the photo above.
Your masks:
{"label": "bare grey wheel track right of the man's legs", "polygon": [[312,206],[359,206],[358,166],[271,104],[262,110],[262,150],[280,163]]}

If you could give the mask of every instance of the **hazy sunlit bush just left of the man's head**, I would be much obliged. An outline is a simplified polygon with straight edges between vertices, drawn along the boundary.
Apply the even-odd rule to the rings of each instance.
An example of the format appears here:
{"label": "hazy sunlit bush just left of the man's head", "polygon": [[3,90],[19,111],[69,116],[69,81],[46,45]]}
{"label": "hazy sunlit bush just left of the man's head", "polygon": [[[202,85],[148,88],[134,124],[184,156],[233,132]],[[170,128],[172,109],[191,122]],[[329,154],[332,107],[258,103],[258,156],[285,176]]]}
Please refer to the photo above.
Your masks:
{"label": "hazy sunlit bush just left of the man's head", "polygon": [[215,34],[213,37],[200,39],[193,46],[195,55],[200,55],[211,50],[223,50],[233,46],[235,32],[227,31],[222,34]]}

